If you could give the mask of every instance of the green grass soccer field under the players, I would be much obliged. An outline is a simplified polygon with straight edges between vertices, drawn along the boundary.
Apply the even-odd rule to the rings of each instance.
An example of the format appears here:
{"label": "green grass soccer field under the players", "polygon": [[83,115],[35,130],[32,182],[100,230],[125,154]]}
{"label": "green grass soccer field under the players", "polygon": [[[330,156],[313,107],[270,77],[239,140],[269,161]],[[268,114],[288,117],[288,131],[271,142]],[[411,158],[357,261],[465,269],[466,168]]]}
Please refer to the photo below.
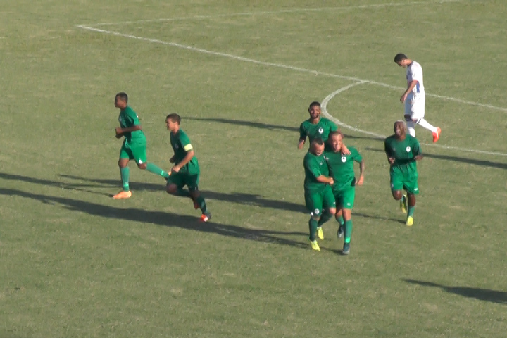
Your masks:
{"label": "green grass soccer field under the players", "polygon": [[[505,337],[504,1],[4,1],[0,337]],[[425,70],[408,228],[382,139],[400,51]],[[299,124],[311,101],[366,161],[350,256],[308,246]],[[170,168],[180,113],[213,213],[131,163],[116,92]],[[365,133],[366,132],[366,133]]]}

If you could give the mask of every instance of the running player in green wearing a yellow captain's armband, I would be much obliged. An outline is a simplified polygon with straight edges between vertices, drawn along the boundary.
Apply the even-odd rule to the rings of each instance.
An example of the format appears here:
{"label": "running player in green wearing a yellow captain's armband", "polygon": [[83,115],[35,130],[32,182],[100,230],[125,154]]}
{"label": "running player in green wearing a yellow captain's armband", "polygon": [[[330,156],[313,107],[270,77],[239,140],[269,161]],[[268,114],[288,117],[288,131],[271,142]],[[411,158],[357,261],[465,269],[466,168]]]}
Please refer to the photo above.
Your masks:
{"label": "running player in green wearing a yellow captain's armband", "polygon": [[[199,192],[199,176],[201,170],[194,153],[194,147],[183,130],[180,129],[180,115],[173,113],[165,118],[165,125],[170,131],[170,142],[174,155],[170,163],[174,163],[168,178],[167,192],[175,196],[190,197],[194,208],[201,208],[201,221],[208,222],[211,213],[206,208],[206,201]],[[183,189],[184,186],[188,187]]]}

